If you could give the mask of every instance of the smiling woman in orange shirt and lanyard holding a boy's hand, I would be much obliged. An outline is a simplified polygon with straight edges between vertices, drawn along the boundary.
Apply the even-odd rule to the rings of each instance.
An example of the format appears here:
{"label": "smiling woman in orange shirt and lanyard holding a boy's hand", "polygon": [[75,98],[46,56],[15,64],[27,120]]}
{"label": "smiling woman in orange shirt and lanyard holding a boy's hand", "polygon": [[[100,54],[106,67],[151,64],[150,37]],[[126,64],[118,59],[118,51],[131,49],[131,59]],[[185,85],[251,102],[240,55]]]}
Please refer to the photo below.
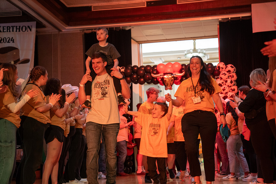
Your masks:
{"label": "smiling woman in orange shirt and lanyard holding a boy's hand", "polygon": [[[200,181],[201,169],[197,157],[197,138],[200,134],[206,183],[215,180],[214,146],[217,133],[217,120],[214,114],[214,102],[221,114],[220,122],[225,126],[225,113],[219,92],[221,88],[207,72],[203,60],[199,56],[190,59],[188,67],[190,78],[181,82],[175,93],[174,106],[180,106],[185,100],[186,108],[182,117],[182,132],[185,138],[185,150],[190,164],[190,173],[195,184]],[[166,100],[171,98],[168,95]]]}

